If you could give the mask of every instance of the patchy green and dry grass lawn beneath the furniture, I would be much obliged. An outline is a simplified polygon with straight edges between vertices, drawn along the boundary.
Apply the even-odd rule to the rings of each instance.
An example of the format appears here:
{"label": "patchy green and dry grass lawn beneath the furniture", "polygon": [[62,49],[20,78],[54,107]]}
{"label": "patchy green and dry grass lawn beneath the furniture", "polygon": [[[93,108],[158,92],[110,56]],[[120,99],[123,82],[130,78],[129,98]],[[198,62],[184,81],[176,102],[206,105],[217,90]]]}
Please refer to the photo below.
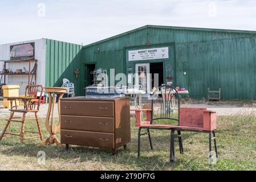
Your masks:
{"label": "patchy green and dry grass lawn beneath the furniture", "polygon": [[[44,119],[40,120],[44,138],[48,137]],[[254,115],[234,115],[218,117],[217,164],[209,168],[208,134],[183,132],[185,154],[178,152],[176,138],[176,162],[169,163],[169,131],[152,130],[153,147],[149,148],[148,138],[141,139],[141,157],[137,158],[137,128],[132,118],[132,141],[127,150],[117,151],[112,156],[110,150],[72,146],[36,146],[39,139],[19,143],[19,137],[6,137],[0,142],[0,170],[256,170],[256,117]],[[0,121],[0,130],[5,121]],[[12,125],[19,132],[19,123]],[[27,122],[27,130],[36,130],[34,122]],[[39,165],[37,154],[46,153],[46,164]]]}

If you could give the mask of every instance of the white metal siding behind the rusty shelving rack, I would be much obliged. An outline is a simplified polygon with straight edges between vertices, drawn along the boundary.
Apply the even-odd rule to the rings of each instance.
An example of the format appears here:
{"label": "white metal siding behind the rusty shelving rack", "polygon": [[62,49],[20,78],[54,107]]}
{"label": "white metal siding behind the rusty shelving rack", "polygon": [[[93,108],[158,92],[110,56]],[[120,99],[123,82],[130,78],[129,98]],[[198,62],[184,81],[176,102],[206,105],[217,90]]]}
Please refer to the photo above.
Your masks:
{"label": "white metal siding behind the rusty shelving rack", "polygon": [[[10,46],[18,45],[18,44],[25,44],[25,43],[35,43],[35,59],[38,60],[38,70],[36,76],[36,83],[37,84],[45,84],[45,60],[46,60],[46,49],[45,49],[45,39],[38,39],[38,40],[30,40],[26,42],[18,42],[18,43],[11,43],[11,44],[2,44],[0,45],[0,60],[10,60]],[[0,69],[3,69],[3,63],[0,62]],[[29,69],[29,64],[27,63],[12,63],[7,65],[8,68],[12,69],[14,72],[16,69],[23,69],[26,67]],[[32,69],[32,68],[31,68]],[[6,76],[6,84],[15,84],[20,85],[20,94],[25,93],[25,88],[28,82],[27,76]]]}

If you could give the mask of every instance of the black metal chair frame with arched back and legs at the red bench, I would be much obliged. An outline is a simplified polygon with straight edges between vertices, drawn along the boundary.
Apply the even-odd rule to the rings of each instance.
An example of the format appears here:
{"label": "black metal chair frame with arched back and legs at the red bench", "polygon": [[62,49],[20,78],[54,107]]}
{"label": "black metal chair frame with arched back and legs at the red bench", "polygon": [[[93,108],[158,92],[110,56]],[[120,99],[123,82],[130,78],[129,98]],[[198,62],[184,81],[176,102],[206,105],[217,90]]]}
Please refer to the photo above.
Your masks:
{"label": "black metal chair frame with arched back and legs at the red bench", "polygon": [[[164,88],[164,93],[162,93],[162,88]],[[168,97],[166,96],[166,89],[169,89],[169,92],[167,92]],[[156,92],[158,92],[163,96],[162,98],[160,98]],[[170,92],[174,90],[174,94],[172,94],[172,96],[170,97]],[[177,99],[178,99],[178,119],[176,118],[171,118],[170,117],[170,111],[168,109],[170,109],[170,101],[172,101],[172,98],[174,96],[177,95]],[[156,121],[158,119],[169,119],[171,121],[178,121],[178,125],[180,125],[180,95],[178,94],[178,91],[176,90],[176,88],[174,88],[173,86],[170,85],[162,85],[160,86],[158,89],[156,89],[156,91],[153,93],[153,97],[157,96],[157,98],[160,99],[160,104],[161,104],[161,113],[160,113],[160,118],[153,118],[154,112],[153,112],[153,107],[154,107],[154,101],[152,99],[151,101],[151,125],[153,124],[153,121]],[[143,133],[141,134],[141,129],[147,129],[147,133]],[[170,162],[174,162],[174,132],[175,129],[170,129],[170,128],[160,128],[160,127],[147,127],[147,126],[141,126],[139,127],[139,132],[138,132],[138,158],[140,157],[140,137],[142,135],[148,135],[149,138],[149,144],[151,146],[151,150],[153,150],[153,146],[152,146],[152,139],[151,139],[151,134],[150,134],[150,129],[152,130],[170,130]],[[179,143],[179,147],[180,147],[180,154],[184,154],[184,149],[183,149],[183,144],[182,144],[182,138],[181,138],[181,131],[178,131],[178,143]]]}

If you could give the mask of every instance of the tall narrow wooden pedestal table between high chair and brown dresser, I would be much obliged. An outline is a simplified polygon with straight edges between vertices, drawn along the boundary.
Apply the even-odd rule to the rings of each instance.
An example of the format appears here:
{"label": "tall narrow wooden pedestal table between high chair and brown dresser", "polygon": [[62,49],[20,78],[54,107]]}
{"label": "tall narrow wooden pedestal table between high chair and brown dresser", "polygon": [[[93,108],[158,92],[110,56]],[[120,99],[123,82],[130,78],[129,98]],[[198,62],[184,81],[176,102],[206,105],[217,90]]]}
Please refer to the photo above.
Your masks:
{"label": "tall narrow wooden pedestal table between high chair and brown dresser", "polygon": [[[59,101],[58,101],[58,112],[59,112],[59,121],[60,121],[60,99],[66,93],[67,88],[62,87],[46,87],[44,88],[45,92],[48,92],[49,95],[49,107],[46,115],[46,129],[50,133],[50,137],[47,138],[44,142],[39,143],[38,145],[45,145],[45,144],[58,144],[58,146],[62,146],[59,142],[58,138],[56,138],[56,133],[60,131],[60,122],[58,125],[54,125],[54,105],[55,105],[55,94],[60,94]],[[50,119],[51,117],[51,119]]]}

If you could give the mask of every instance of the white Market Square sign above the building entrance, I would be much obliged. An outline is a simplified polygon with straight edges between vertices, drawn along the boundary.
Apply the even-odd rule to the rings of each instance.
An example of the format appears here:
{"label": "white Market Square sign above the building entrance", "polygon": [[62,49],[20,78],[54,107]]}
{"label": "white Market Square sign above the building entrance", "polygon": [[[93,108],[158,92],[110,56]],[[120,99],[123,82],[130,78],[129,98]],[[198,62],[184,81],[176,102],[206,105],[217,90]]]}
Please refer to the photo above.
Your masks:
{"label": "white Market Square sign above the building entrance", "polygon": [[152,59],[168,59],[169,58],[169,48],[151,48],[151,49],[139,49],[128,51],[129,61],[139,61],[139,60],[152,60]]}

